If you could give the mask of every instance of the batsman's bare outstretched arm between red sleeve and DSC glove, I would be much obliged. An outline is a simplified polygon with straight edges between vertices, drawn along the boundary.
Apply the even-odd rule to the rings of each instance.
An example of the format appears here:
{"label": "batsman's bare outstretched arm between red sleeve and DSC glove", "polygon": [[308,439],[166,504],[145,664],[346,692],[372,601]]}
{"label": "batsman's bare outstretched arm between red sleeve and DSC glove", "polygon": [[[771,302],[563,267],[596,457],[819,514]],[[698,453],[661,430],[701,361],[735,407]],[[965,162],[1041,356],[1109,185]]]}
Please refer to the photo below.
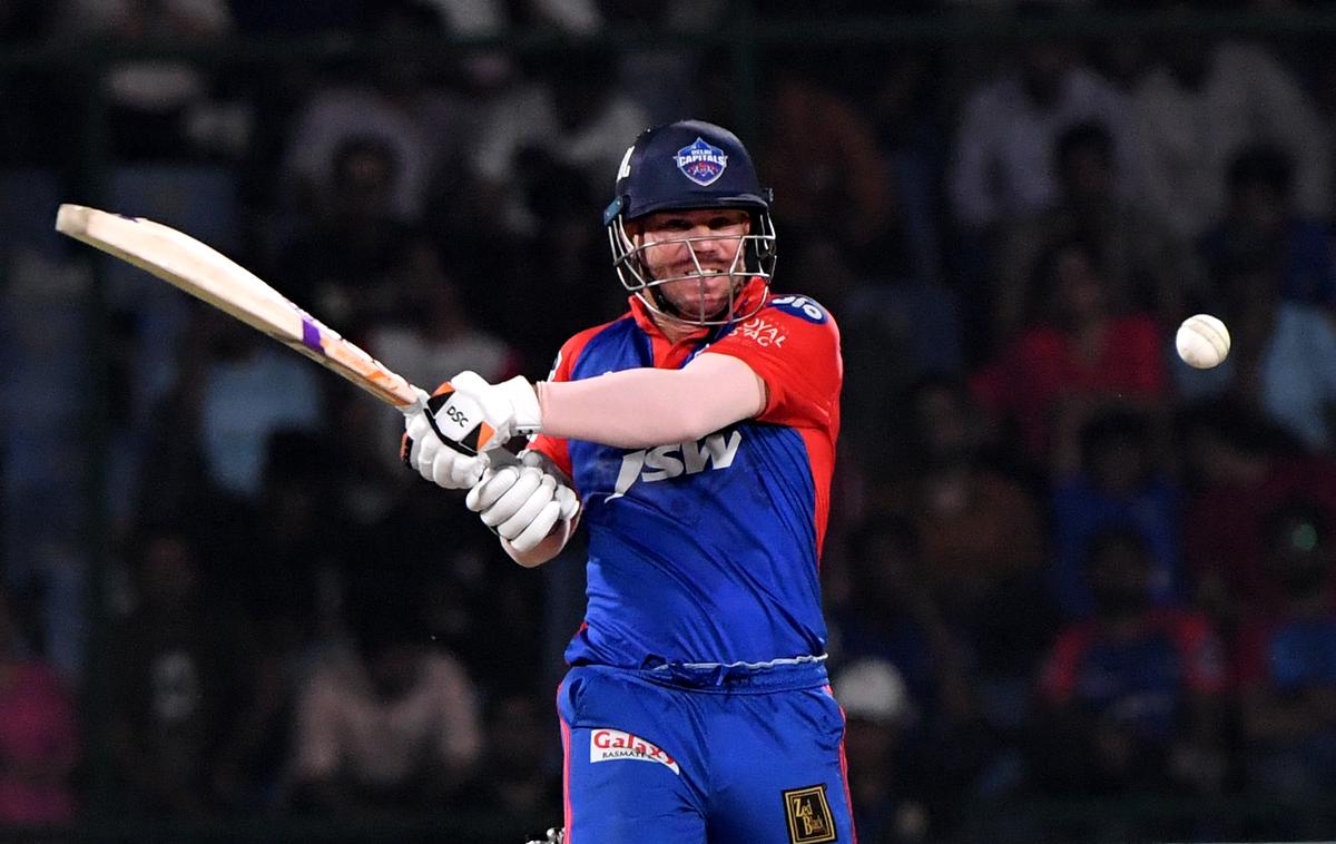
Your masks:
{"label": "batsman's bare outstretched arm between red sleeve and DSC glove", "polygon": [[684,369],[641,367],[569,382],[541,382],[542,430],[620,449],[700,439],[758,415],[766,387],[749,366],[721,354]]}

